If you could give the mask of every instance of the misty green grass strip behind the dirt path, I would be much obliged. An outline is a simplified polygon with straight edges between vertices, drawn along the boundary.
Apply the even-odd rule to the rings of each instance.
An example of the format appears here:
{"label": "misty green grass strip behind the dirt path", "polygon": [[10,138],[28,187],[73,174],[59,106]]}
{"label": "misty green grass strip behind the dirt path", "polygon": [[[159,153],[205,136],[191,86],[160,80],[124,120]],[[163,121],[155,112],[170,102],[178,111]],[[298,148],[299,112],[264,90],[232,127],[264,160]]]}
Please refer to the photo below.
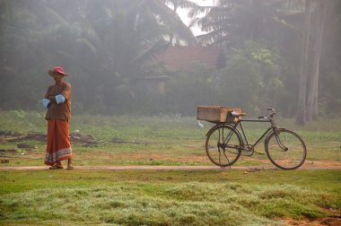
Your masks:
{"label": "misty green grass strip behind the dirt path", "polygon": [[[29,134],[46,133],[43,112],[22,110],[0,111],[0,130]],[[197,126],[195,117],[136,117],[136,116],[73,116],[70,131],[79,130],[92,135],[102,143],[83,147],[73,143],[75,165],[210,165],[205,156],[205,134],[213,124],[202,122]],[[308,148],[307,162],[341,161],[341,119],[314,121],[310,125],[295,126],[293,119],[279,118],[278,126],[287,127],[302,135]],[[267,128],[267,124],[244,123],[249,143],[253,143]],[[124,143],[115,143],[122,141]],[[0,149],[17,149],[4,165],[41,165],[45,143],[25,141],[38,146],[37,150],[20,150],[18,142],[0,143]],[[264,144],[256,147],[264,152]],[[22,154],[23,153],[23,154]],[[94,155],[96,158],[94,158]],[[240,158],[237,165],[258,166],[265,155]],[[263,161],[261,164],[270,164]]]}

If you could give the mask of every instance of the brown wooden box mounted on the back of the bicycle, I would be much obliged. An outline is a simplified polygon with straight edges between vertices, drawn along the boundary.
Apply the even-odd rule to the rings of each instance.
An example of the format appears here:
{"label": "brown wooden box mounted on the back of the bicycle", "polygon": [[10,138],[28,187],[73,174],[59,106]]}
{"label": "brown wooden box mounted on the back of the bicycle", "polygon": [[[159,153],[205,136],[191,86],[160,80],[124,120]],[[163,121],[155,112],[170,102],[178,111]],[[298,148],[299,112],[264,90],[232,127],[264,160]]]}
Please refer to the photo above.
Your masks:
{"label": "brown wooden box mounted on the back of the bicycle", "polygon": [[241,114],[240,108],[221,107],[221,106],[198,106],[197,119],[212,123],[235,123],[240,118],[230,117],[229,112],[235,111]]}

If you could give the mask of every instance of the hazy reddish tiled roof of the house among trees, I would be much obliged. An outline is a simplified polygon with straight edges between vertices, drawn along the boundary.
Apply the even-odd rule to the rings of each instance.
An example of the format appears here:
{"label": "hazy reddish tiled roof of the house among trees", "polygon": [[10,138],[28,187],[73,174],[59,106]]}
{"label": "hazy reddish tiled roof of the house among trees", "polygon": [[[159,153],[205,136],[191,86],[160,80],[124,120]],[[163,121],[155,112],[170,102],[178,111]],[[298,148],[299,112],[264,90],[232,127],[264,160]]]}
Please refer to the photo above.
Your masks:
{"label": "hazy reddish tiled roof of the house among trees", "polygon": [[195,71],[196,64],[216,68],[219,48],[170,46],[160,54],[154,63],[161,63],[176,71]]}

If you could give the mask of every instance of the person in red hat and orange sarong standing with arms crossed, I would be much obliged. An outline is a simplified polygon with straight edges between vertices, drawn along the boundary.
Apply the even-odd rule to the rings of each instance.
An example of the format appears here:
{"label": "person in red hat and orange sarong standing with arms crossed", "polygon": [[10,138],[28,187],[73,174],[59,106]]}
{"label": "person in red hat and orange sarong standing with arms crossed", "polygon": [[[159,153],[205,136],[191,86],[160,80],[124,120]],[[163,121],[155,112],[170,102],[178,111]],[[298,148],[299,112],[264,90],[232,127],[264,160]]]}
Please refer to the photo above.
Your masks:
{"label": "person in red hat and orange sarong standing with arms crossed", "polygon": [[67,160],[66,170],[73,170],[72,148],[69,137],[71,119],[71,85],[64,81],[67,76],[64,69],[56,66],[49,70],[55,84],[48,86],[43,105],[48,109],[48,143],[45,164],[50,170],[63,169],[62,161]]}

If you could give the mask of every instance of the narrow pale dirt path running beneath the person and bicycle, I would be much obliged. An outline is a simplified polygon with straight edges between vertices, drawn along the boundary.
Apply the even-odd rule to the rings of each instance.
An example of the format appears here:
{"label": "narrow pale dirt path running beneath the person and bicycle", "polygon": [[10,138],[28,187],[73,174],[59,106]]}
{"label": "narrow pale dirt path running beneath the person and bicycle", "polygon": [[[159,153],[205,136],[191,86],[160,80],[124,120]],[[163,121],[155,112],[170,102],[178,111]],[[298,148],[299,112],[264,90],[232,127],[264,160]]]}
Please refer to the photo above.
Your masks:
{"label": "narrow pale dirt path running beneath the person and bicycle", "polygon": [[[5,166],[0,170],[48,170],[48,166]],[[74,166],[74,170],[277,170],[275,167],[239,167],[223,168],[217,166]],[[341,166],[303,165],[299,170],[341,170]]]}

